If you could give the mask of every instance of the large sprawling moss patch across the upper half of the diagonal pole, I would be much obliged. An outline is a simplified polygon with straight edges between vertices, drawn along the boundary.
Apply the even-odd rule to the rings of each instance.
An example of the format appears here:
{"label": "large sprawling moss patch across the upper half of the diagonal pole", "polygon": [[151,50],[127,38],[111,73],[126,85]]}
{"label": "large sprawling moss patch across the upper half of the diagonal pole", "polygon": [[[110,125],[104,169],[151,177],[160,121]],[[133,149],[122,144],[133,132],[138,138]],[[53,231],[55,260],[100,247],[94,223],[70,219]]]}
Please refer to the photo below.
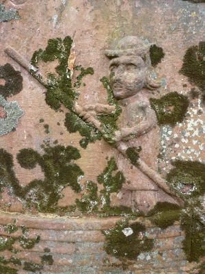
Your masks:
{"label": "large sprawling moss patch across the upper half of the diagonal pole", "polygon": [[[70,133],[79,132],[81,136],[85,137],[80,141],[81,147],[85,149],[89,142],[95,142],[100,138],[100,133],[96,131],[92,125],[87,125],[82,121],[79,116],[74,113],[72,107],[75,99],[77,99],[76,89],[81,86],[83,77],[89,74],[93,75],[94,70],[91,67],[84,69],[81,65],[74,66],[74,70],[80,71],[80,73],[72,85],[70,70],[68,69],[68,58],[70,56],[71,46],[72,39],[70,36],[66,36],[64,40],[61,38],[49,39],[45,50],[39,49],[33,53],[31,64],[38,68],[40,61],[52,62],[57,59],[59,61],[59,65],[55,67],[57,75],[48,73],[47,79],[45,80],[40,74],[36,73],[35,70],[31,70],[31,74],[45,86],[46,103],[48,103],[51,108],[58,110],[62,103],[71,111],[66,114],[65,126]],[[46,129],[45,132],[49,133],[49,129]]]}

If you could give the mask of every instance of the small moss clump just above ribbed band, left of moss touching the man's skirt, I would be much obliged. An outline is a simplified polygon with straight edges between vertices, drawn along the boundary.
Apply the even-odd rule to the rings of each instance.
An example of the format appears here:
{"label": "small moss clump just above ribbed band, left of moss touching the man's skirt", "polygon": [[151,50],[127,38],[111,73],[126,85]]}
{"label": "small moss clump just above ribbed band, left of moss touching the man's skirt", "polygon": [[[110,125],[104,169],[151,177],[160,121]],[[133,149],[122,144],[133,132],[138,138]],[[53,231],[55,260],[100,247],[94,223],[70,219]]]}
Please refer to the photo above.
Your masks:
{"label": "small moss clump just above ribbed band, left of moss touching the man's skirt", "polygon": [[76,199],[77,208],[83,213],[98,212],[98,186],[92,181],[85,184],[85,192],[81,200]]}

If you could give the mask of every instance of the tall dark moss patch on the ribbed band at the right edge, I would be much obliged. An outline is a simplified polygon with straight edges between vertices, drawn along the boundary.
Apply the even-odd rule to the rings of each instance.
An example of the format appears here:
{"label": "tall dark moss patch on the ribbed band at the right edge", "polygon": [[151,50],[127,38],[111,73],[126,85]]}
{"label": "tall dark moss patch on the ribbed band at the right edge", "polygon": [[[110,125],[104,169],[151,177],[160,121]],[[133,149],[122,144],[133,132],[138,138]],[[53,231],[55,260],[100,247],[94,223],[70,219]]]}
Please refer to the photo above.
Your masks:
{"label": "tall dark moss patch on the ribbed band at the right edge", "polygon": [[183,212],[181,229],[185,232],[182,249],[186,253],[187,260],[198,261],[200,257],[205,256],[205,229],[200,216],[197,216],[193,210]]}

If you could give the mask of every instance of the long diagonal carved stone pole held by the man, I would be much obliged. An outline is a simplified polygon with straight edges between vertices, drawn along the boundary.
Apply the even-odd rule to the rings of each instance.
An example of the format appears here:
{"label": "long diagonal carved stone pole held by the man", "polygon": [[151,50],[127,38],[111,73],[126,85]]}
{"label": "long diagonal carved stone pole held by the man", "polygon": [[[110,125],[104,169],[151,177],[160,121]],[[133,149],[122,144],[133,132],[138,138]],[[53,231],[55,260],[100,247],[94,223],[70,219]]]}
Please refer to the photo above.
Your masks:
{"label": "long diagonal carved stone pole held by the man", "polygon": [[[10,58],[12,58],[18,64],[20,64],[20,66],[23,66],[23,68],[26,69],[29,73],[30,73],[31,69],[33,69],[33,71],[36,71],[36,72],[38,71],[38,69],[33,67],[25,58],[23,58],[23,56],[21,56],[17,51],[12,49],[12,47],[6,48],[5,53],[7,53],[10,56]],[[92,123],[94,125],[94,127],[96,127],[96,129],[99,130],[99,132],[102,132],[102,126],[101,126],[100,121],[95,119],[95,117],[92,116],[92,114],[85,112],[85,110],[83,110],[81,105],[79,105],[78,103],[74,104],[74,113],[78,114],[79,116],[84,116],[86,114],[87,115],[86,119],[89,121],[89,123]],[[115,145],[115,148],[118,149],[118,151],[120,151],[120,153],[122,153],[122,155],[127,157],[126,149],[128,147],[125,147],[125,146],[122,146],[119,144],[120,143],[117,143]],[[143,160],[139,159],[138,165],[135,166],[135,168],[139,169],[143,174],[145,174],[150,179],[152,179],[152,181],[157,186],[159,186],[159,188],[161,188],[163,191],[165,191],[168,195],[171,195],[180,206],[184,206],[184,201],[180,197],[178,197],[176,195],[176,193],[174,192],[174,190],[172,190],[166,184],[165,179],[163,179],[163,177],[161,177],[159,175],[159,173],[156,173],[156,171],[151,169],[150,166],[148,166],[145,162],[143,162]]]}

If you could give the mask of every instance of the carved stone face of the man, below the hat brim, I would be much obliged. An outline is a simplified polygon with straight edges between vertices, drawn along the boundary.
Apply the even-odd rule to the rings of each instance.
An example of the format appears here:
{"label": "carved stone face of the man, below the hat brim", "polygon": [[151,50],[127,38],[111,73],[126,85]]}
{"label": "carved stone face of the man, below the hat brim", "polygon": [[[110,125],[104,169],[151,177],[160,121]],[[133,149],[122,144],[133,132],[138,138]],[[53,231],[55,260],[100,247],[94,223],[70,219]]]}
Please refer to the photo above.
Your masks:
{"label": "carved stone face of the man, below the hat brim", "polygon": [[116,99],[135,95],[146,81],[147,66],[139,56],[121,56],[110,62],[111,88]]}

